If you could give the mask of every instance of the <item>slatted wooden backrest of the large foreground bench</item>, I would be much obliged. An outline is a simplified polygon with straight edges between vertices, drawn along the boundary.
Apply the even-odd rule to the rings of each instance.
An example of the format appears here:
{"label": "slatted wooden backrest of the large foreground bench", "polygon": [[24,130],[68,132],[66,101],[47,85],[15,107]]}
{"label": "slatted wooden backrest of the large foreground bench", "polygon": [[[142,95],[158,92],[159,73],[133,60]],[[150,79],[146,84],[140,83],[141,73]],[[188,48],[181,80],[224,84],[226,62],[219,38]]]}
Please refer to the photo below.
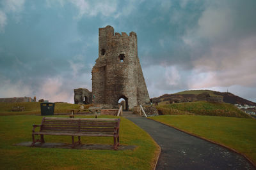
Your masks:
{"label": "slatted wooden backrest of the large foreground bench", "polygon": [[41,132],[70,132],[93,134],[118,133],[120,118],[55,118],[44,117]]}

